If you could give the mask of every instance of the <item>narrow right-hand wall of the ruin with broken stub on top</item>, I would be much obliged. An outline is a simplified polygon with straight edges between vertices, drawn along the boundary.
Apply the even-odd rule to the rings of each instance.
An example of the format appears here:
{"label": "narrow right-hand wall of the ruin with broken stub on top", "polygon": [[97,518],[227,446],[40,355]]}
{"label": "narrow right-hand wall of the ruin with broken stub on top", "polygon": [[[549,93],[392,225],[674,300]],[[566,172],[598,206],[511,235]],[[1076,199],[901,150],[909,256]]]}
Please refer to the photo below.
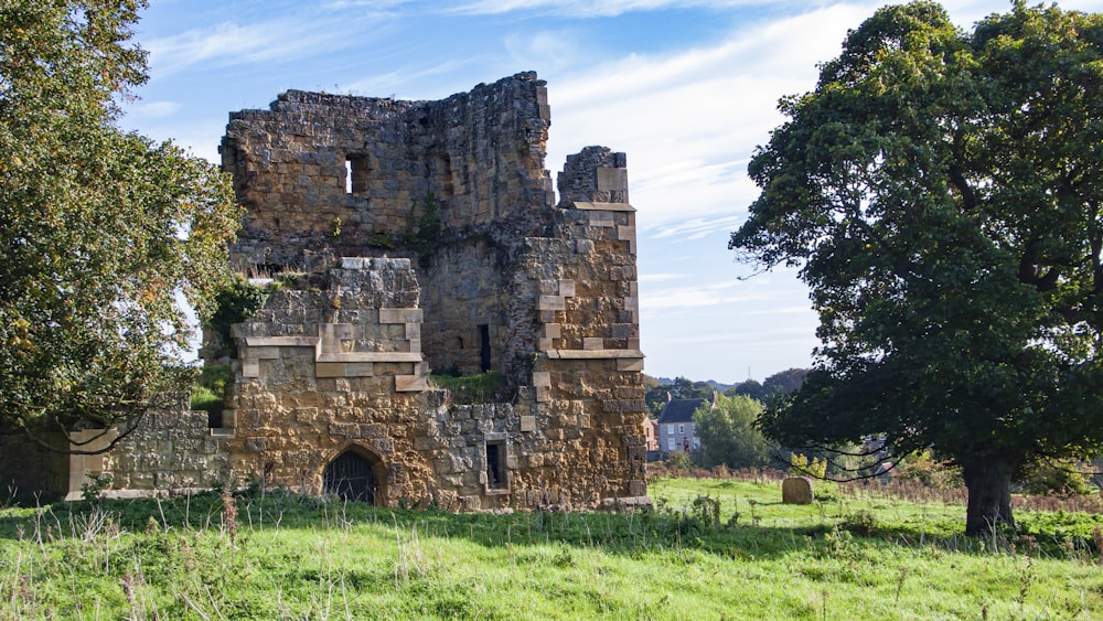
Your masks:
{"label": "narrow right-hand wall of the ruin with broken stub on top", "polygon": [[[587,147],[559,174],[559,281],[545,281],[538,398],[561,420],[565,451],[581,480],[618,495],[646,493],[646,417],[635,271],[635,210],[624,153]],[[553,285],[556,291],[553,293]],[[574,425],[571,425],[574,421]],[[590,490],[592,490],[591,488]],[[588,491],[590,491],[588,490]]]}

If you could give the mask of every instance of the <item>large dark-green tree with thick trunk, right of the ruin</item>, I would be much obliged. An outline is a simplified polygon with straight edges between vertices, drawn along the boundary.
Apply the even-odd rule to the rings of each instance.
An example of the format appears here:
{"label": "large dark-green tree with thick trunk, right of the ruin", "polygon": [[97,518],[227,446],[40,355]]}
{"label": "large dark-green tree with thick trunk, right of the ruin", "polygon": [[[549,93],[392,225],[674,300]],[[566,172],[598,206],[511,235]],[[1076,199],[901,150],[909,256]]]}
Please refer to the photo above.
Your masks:
{"label": "large dark-green tree with thick trunk, right of the ruin", "polygon": [[1014,524],[1017,471],[1103,448],[1103,15],[887,7],[780,107],[729,248],[800,268],[822,345],[763,430],[930,447],[967,533]]}

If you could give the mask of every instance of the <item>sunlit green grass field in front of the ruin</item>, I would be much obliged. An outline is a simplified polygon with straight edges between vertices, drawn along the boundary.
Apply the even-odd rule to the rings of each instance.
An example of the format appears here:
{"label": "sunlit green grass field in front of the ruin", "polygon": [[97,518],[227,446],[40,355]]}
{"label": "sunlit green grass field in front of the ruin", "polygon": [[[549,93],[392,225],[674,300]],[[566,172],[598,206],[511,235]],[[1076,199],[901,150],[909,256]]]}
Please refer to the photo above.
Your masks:
{"label": "sunlit green grass field in front of the ruin", "polygon": [[652,511],[453,515],[271,493],[0,511],[0,619],[1103,619],[1103,516],[660,479]]}

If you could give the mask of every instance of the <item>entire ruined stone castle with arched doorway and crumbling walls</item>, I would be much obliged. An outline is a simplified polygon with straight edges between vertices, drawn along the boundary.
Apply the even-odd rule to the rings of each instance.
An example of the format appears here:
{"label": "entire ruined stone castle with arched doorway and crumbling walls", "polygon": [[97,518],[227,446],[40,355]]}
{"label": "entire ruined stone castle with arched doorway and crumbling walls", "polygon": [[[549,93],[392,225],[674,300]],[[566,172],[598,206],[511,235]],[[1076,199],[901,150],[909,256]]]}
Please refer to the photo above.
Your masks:
{"label": "entire ruined stone castle with arched doorway and crumbling walls", "polygon": [[[233,371],[221,420],[149,417],[67,492],[263,480],[458,511],[645,502],[635,214],[625,158],[544,168],[545,83],[438,101],[291,90],[231,115],[221,152],[247,214],[232,267],[264,304],[207,331]],[[433,377],[500,377],[458,403]],[[462,381],[461,381],[462,382]]]}

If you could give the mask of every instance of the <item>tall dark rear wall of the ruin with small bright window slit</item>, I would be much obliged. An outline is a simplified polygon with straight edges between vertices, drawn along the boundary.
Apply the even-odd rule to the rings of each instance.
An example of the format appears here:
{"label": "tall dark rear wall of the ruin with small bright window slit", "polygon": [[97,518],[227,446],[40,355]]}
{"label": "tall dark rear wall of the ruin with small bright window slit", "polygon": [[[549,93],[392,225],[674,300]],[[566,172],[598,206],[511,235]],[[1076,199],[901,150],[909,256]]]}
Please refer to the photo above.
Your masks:
{"label": "tall dark rear wall of the ruin with small bright window slit", "polygon": [[535,330],[532,313],[516,312],[534,293],[515,282],[515,258],[556,216],[549,122],[534,73],[439,101],[289,92],[270,110],[233,114],[223,161],[248,215],[232,263],[264,274],[338,256],[409,257],[429,367],[511,376],[533,353],[515,343]]}

